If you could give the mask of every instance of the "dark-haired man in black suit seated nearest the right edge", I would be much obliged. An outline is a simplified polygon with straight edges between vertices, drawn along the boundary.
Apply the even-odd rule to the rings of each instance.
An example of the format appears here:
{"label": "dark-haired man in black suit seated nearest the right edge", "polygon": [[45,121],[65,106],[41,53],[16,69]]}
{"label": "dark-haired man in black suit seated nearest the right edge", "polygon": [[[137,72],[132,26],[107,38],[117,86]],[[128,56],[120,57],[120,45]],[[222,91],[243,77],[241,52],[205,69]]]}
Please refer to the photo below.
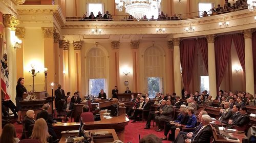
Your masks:
{"label": "dark-haired man in black suit seated nearest the right edge", "polygon": [[[248,123],[250,122],[250,118],[249,118],[249,115],[247,113],[247,109],[245,106],[240,107],[240,113],[241,113],[241,116],[239,118],[237,118],[237,120],[228,122],[228,124],[230,126],[227,126],[227,128],[233,129],[234,126],[244,127],[244,126],[248,125]],[[243,130],[243,131],[245,131],[245,130]]]}

